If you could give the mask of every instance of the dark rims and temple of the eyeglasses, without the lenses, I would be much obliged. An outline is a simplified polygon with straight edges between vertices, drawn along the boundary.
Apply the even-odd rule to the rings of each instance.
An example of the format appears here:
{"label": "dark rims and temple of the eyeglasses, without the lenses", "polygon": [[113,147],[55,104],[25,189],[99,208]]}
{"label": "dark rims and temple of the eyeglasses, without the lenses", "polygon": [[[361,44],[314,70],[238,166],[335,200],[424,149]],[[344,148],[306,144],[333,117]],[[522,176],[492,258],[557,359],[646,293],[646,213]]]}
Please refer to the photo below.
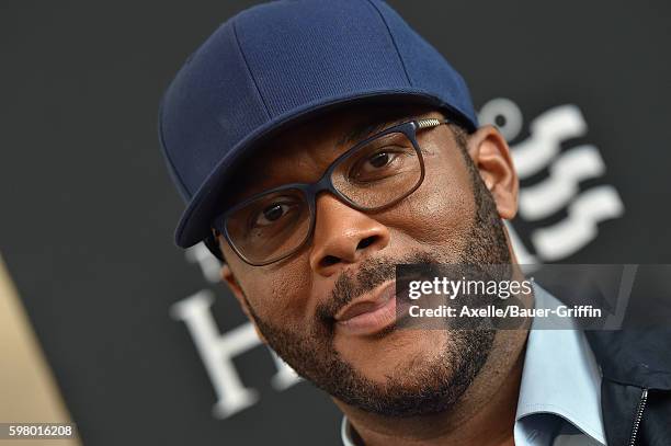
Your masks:
{"label": "dark rims and temple of the eyeglasses, without the lenses", "polygon": [[[321,175],[321,178],[319,180],[317,180],[314,183],[289,183],[289,184],[283,184],[281,186],[277,187],[273,187],[263,192],[260,192],[258,194],[254,194],[248,198],[246,198],[244,201],[242,201],[241,203],[236,204],[235,206],[226,209],[224,213],[219,214],[217,217],[215,217],[215,219],[213,220],[213,228],[215,229],[215,231],[217,231],[218,233],[223,235],[224,238],[226,239],[226,241],[228,242],[228,245],[232,249],[232,251],[247,264],[251,265],[251,266],[265,266],[265,265],[270,265],[271,263],[276,263],[280,262],[282,260],[285,260],[292,255],[294,255],[296,252],[298,252],[306,243],[308,240],[310,240],[310,238],[312,237],[312,232],[315,230],[315,222],[317,219],[317,211],[316,211],[316,201],[317,201],[317,195],[319,195],[321,192],[330,192],[331,194],[333,194],[336,197],[338,197],[339,199],[341,199],[342,202],[344,202],[346,205],[351,206],[352,208],[356,209],[356,210],[361,210],[361,211],[365,211],[365,213],[369,213],[369,211],[377,211],[377,210],[383,210],[386,209],[388,207],[391,207],[396,204],[398,204],[400,201],[402,201],[403,198],[408,197],[410,194],[412,194],[414,191],[417,191],[417,188],[423,183],[424,181],[424,173],[425,173],[425,169],[424,169],[424,159],[422,157],[422,152],[421,152],[421,148],[419,146],[419,142],[417,141],[417,130],[420,129],[424,129],[424,128],[433,128],[436,127],[441,124],[451,124],[452,121],[450,119],[436,119],[436,118],[427,118],[427,119],[414,119],[414,121],[408,121],[405,123],[400,123],[397,125],[394,125],[391,127],[388,127],[379,133],[376,133],[375,135],[372,135],[359,142],[356,142],[353,147],[351,147],[350,149],[345,150],[343,153],[341,153],[336,160],[333,160],[333,162],[331,162],[331,164],[329,164],[329,167],[326,169],[326,171],[323,172],[323,174]],[[360,206],[356,203],[352,202],[348,196],[343,195],[340,191],[338,191],[338,188],[336,188],[336,186],[333,185],[333,182],[331,180],[331,176],[333,174],[333,171],[346,159],[349,159],[352,155],[356,153],[356,151],[359,149],[361,149],[362,147],[366,146],[367,144],[369,144],[371,141],[380,138],[385,135],[388,134],[393,134],[393,133],[402,133],[403,135],[406,135],[406,137],[408,137],[408,140],[410,140],[410,142],[412,144],[412,147],[414,148],[414,151],[418,155],[418,159],[420,162],[420,178],[417,182],[417,184],[414,186],[412,186],[412,188],[410,188],[407,193],[400,195],[398,198],[393,199],[391,202],[383,205],[383,206],[377,206],[377,207],[364,207],[364,206]],[[238,248],[235,245],[235,243],[232,242],[229,233],[228,233],[228,229],[227,229],[227,218],[234,214],[235,211],[248,206],[250,203],[259,199],[260,197],[268,195],[268,194],[272,194],[272,193],[276,193],[280,191],[285,191],[285,190],[298,190],[300,191],[304,196],[305,199],[308,204],[308,209],[309,209],[309,217],[310,217],[310,227],[305,236],[305,238],[300,241],[300,243],[298,243],[296,245],[296,248],[294,248],[293,250],[291,250],[289,252],[287,252],[284,255],[281,255],[276,259],[271,259],[269,261],[264,261],[261,263],[258,262],[252,262],[250,259],[248,259],[244,254],[242,254],[242,252],[240,252],[240,250],[238,250]],[[216,233],[213,233],[211,237],[208,237],[207,239],[204,240],[205,244],[209,248],[211,251],[213,252],[220,252],[219,248],[218,248],[218,242],[216,240]],[[213,250],[213,248],[216,249],[216,251]],[[224,260],[223,256],[219,256],[219,260]]]}

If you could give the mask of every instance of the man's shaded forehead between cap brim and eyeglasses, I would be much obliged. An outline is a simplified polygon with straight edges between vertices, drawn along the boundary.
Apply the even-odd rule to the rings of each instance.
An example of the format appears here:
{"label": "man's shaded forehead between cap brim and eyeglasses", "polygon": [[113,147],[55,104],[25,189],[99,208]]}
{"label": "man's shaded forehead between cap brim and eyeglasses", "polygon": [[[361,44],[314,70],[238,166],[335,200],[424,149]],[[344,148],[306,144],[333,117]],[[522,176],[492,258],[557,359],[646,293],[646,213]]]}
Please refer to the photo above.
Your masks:
{"label": "man's shaded forehead between cap brim and eyeglasses", "polygon": [[286,183],[317,181],[338,155],[366,136],[432,110],[396,103],[350,105],[294,124],[253,148],[238,164],[227,202]]}

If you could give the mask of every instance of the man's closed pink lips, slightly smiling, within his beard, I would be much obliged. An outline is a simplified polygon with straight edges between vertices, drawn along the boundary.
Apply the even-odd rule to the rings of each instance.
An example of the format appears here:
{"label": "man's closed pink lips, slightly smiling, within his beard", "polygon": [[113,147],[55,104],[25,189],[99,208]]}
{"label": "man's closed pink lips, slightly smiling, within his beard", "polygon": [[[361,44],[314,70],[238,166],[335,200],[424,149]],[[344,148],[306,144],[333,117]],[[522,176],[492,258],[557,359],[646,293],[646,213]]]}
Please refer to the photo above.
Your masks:
{"label": "man's closed pink lips, slightly smiling, within his beard", "polygon": [[396,281],[386,282],[336,315],[339,331],[352,335],[377,333],[396,322]]}

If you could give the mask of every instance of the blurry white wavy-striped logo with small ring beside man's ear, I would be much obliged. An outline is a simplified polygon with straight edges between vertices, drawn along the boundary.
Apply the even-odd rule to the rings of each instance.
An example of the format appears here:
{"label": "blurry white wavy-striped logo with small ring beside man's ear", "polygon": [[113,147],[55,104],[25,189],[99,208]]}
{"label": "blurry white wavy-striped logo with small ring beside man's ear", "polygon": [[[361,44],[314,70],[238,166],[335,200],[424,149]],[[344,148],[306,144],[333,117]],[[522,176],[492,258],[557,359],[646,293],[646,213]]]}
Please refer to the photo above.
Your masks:
{"label": "blurry white wavy-striped logo with small ring beside man's ear", "polygon": [[[480,111],[480,124],[494,124],[508,141],[522,130],[522,113],[508,99],[489,101]],[[598,224],[617,218],[624,205],[614,186],[602,184],[580,191],[579,183],[605,173],[599,149],[579,145],[561,150],[561,144],[584,137],[588,126],[576,105],[550,108],[528,124],[530,136],[511,145],[520,180],[543,174],[543,180],[520,188],[519,219],[530,224],[565,211],[566,217],[549,226],[535,227],[525,247],[514,233],[520,263],[557,262],[580,251],[599,235]],[[509,229],[515,232],[513,225]],[[535,254],[530,252],[534,251]]]}

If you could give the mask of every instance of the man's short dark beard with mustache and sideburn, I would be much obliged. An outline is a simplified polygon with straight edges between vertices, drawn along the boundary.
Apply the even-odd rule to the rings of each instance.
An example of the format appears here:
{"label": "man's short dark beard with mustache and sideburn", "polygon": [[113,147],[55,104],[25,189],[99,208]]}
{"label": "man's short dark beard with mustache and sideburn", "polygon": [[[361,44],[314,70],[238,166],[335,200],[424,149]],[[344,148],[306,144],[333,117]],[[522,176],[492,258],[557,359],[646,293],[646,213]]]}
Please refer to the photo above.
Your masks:
{"label": "man's short dark beard with mustache and sideburn", "polygon": [[[473,184],[476,214],[459,264],[510,264],[511,255],[493,198],[470,158],[464,152]],[[394,367],[384,384],[363,376],[334,346],[333,315],[352,299],[378,285],[395,279],[397,264],[452,263],[446,254],[414,252],[403,259],[379,256],[360,265],[357,273],[341,274],[328,302],[317,307],[316,323],[308,330],[277,327],[259,318],[248,304],[269,345],[298,375],[346,404],[383,416],[417,416],[450,410],[468,389],[491,351],[494,330],[443,331],[437,353],[418,352],[408,358],[408,367]],[[454,262],[454,258],[452,259]],[[391,325],[380,335],[394,331]],[[429,332],[436,334],[439,332]],[[384,359],[382,359],[384,361]]]}

